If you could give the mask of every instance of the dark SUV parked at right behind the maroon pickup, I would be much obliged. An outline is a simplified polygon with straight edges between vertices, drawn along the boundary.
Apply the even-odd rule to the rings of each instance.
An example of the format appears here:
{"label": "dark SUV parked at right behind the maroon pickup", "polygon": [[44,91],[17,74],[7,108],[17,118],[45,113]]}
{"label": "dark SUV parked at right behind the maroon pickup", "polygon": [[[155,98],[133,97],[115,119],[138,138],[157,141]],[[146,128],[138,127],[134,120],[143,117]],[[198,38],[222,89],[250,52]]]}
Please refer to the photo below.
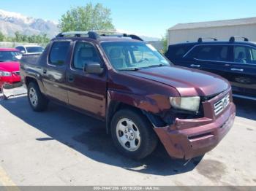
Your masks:
{"label": "dark SUV parked at right behind the maroon pickup", "polygon": [[[256,42],[229,41],[173,44],[165,56],[175,65],[201,69],[228,79],[233,87],[233,96],[256,100]],[[203,79],[202,79],[203,80]]]}

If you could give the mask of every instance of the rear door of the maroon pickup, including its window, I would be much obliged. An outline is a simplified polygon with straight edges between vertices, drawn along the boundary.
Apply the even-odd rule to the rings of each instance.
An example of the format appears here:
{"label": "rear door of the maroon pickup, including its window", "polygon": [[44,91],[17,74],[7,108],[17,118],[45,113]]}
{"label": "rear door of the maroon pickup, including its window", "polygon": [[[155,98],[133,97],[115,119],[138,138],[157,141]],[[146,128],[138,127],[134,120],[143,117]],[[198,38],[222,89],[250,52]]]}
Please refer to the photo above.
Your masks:
{"label": "rear door of the maroon pickup, including its window", "polygon": [[43,84],[46,94],[57,101],[68,103],[66,70],[69,66],[70,42],[53,42],[48,54],[48,63],[43,69]]}

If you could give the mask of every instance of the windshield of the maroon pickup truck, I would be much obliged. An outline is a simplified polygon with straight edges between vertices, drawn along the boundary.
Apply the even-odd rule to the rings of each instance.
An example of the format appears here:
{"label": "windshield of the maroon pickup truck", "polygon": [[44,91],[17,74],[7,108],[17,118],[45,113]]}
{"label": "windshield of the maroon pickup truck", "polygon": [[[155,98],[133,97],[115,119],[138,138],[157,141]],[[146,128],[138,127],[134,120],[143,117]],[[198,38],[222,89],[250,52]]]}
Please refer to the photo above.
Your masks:
{"label": "windshield of the maroon pickup truck", "polygon": [[102,47],[112,66],[120,71],[170,66],[151,44],[144,42],[102,42]]}

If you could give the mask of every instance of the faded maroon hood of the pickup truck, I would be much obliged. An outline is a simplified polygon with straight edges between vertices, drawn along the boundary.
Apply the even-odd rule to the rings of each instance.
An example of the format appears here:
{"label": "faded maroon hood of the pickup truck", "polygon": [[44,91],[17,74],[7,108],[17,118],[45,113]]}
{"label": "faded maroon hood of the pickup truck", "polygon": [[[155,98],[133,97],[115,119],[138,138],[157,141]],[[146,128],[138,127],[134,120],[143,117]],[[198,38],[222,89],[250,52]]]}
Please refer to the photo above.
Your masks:
{"label": "faded maroon hood of the pickup truck", "polygon": [[181,96],[214,95],[230,87],[229,82],[218,75],[180,66],[154,67],[127,73],[175,87]]}

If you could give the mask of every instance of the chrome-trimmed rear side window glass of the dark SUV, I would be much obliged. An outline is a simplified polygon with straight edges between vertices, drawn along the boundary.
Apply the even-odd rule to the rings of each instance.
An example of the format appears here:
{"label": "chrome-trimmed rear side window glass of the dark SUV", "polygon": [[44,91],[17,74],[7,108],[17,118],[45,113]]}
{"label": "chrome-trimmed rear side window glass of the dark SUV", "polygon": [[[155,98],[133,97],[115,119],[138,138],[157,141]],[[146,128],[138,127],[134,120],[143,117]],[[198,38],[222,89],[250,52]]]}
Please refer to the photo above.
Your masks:
{"label": "chrome-trimmed rear side window glass of the dark SUV", "polygon": [[191,52],[190,58],[204,61],[228,61],[229,46],[198,46]]}

